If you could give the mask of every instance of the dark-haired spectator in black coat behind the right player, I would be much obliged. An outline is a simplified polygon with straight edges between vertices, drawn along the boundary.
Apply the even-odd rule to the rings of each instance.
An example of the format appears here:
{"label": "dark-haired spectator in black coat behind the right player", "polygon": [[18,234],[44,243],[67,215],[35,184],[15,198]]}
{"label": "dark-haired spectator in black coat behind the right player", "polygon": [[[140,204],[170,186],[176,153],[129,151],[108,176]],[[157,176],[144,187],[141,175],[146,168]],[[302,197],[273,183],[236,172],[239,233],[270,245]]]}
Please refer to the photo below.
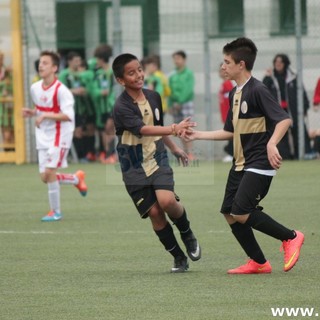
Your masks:
{"label": "dark-haired spectator in black coat behind the right player", "polygon": [[[298,99],[297,99],[297,76],[290,69],[290,60],[286,54],[277,54],[273,59],[273,70],[267,70],[263,83],[269,88],[272,95],[277,99],[281,107],[289,113],[292,119],[292,126],[285,134],[278,145],[283,159],[299,158],[299,119],[298,119]],[[303,91],[304,115],[309,109],[309,100],[305,90]],[[293,143],[290,143],[290,139]],[[304,126],[305,158],[312,157],[310,138],[307,128]]]}

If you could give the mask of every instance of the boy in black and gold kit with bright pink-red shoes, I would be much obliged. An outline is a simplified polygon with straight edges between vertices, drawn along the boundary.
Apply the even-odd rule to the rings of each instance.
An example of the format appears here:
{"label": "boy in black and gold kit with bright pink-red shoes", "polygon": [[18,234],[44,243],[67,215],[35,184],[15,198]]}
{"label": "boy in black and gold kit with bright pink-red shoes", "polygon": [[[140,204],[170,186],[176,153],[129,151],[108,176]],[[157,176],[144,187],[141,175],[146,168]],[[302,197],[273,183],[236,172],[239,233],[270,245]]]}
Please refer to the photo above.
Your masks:
{"label": "boy in black and gold kit with bright pink-red shoes", "polygon": [[231,91],[230,110],[222,130],[185,132],[187,140],[233,139],[234,159],[229,172],[221,207],[232,233],[250,260],[229,274],[270,273],[253,229],[282,241],[284,271],[298,261],[304,235],[273,220],[263,212],[259,202],[267,195],[273,176],[281,166],[277,144],[288,130],[291,120],[268,88],[252,77],[257,55],[255,44],[238,38],[223,48],[222,70],[236,82]]}

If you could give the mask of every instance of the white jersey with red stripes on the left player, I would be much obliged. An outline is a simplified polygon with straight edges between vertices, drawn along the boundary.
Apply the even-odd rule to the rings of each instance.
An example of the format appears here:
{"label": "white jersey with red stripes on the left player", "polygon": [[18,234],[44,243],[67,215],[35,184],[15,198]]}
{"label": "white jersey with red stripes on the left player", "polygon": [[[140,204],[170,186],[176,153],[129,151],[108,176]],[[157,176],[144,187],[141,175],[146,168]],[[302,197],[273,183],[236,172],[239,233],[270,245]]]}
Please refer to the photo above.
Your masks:
{"label": "white jersey with red stripes on the left player", "polygon": [[37,117],[44,112],[63,113],[70,121],[45,119],[36,127],[37,149],[53,146],[71,148],[74,131],[74,98],[71,91],[58,79],[50,87],[44,88],[43,80],[31,86],[31,98],[37,109]]}

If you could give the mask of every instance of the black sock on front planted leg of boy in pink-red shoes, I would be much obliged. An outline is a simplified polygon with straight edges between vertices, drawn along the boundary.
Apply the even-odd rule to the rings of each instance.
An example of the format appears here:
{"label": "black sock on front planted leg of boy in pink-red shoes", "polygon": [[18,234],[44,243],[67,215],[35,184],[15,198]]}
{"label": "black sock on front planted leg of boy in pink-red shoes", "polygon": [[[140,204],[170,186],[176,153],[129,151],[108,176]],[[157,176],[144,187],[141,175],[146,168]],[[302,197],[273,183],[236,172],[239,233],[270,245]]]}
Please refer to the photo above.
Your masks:
{"label": "black sock on front planted leg of boy in pink-red shoes", "polygon": [[257,263],[264,264],[267,260],[253,234],[252,228],[239,222],[231,224],[230,227],[247,256]]}

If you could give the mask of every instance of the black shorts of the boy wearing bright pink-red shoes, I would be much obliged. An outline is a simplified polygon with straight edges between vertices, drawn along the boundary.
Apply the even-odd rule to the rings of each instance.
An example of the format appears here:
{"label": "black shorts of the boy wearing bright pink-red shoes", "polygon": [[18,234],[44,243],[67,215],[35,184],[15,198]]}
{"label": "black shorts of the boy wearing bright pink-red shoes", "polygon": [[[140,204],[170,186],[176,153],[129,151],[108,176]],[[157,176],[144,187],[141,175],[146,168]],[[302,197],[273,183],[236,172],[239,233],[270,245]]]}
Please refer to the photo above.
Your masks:
{"label": "black shorts of the boy wearing bright pink-red shoes", "polygon": [[267,195],[272,176],[230,170],[221,213],[242,215],[253,212]]}

